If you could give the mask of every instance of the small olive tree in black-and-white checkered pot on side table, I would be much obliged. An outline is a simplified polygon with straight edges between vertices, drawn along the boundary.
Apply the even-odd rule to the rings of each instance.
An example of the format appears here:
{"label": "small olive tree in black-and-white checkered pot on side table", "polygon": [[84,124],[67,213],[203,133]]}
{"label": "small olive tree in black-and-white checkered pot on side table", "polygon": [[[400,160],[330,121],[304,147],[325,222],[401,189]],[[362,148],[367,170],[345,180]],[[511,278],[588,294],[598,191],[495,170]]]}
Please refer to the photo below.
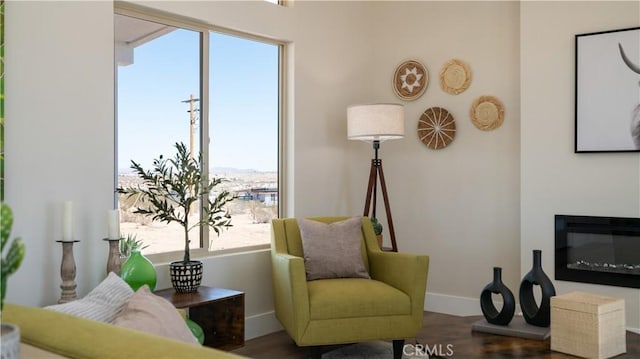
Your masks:
{"label": "small olive tree in black-and-white checkered pot on side table", "polygon": [[[189,231],[209,226],[216,234],[231,226],[231,216],[225,205],[233,200],[228,191],[213,193],[222,178],[207,179],[202,173],[202,153],[191,157],[184,143],[176,143],[176,154],[167,159],[162,155],[153,160],[152,169],[144,170],[131,161],[131,168],[142,179],[142,184],[128,188],[118,187],[118,193],[137,196],[134,213],[151,217],[154,221],[179,223],[184,229],[184,258],[169,266],[171,283],[176,292],[191,293],[198,290],[202,280],[202,261],[191,260]],[[200,218],[189,221],[197,202],[202,201]]]}

